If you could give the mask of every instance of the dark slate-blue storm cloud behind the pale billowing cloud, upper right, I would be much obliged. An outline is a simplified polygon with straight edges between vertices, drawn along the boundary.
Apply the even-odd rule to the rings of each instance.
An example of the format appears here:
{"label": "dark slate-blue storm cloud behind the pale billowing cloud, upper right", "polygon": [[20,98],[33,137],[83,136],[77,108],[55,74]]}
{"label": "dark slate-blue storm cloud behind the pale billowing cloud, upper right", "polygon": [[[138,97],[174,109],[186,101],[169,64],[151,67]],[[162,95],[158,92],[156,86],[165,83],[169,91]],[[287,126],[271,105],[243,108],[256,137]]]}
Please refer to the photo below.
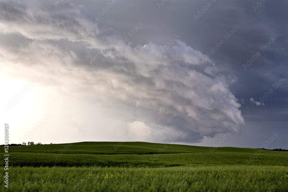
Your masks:
{"label": "dark slate-blue storm cloud behind the pale billowing cloud, upper right", "polygon": [[[269,92],[271,88],[274,90],[273,85],[287,73],[286,1],[265,1],[263,5],[258,5],[259,9],[257,9],[257,1],[215,1],[215,3],[214,1],[168,1],[160,9],[154,5],[156,3],[157,1],[155,3],[141,1],[134,4],[121,2],[118,4],[119,9],[115,6],[115,9],[103,17],[103,20],[110,26],[115,26],[122,35],[126,35],[128,26],[132,27],[129,23],[143,20],[145,27],[141,30],[145,31],[145,34],[141,31],[136,34],[135,39],[131,39],[134,44],[143,44],[151,39],[158,44],[164,44],[169,40],[169,36],[177,31],[181,34],[181,41],[206,54],[215,46],[215,43],[224,40],[225,43],[210,58],[215,61],[221,73],[237,77],[237,83],[231,84],[230,90],[239,100],[243,100],[242,113],[251,114],[250,110],[253,106],[249,101],[250,98],[259,102],[260,97],[263,98],[264,93]],[[198,11],[208,3],[211,3],[211,7],[205,10],[200,18],[196,17],[196,21],[194,16],[198,16]],[[97,10],[95,8],[91,11],[96,13]],[[151,10],[153,14],[147,10]],[[120,20],[120,18],[126,19]],[[223,35],[229,33],[236,24],[240,28],[229,39],[227,36],[224,39]],[[263,49],[271,38],[276,39],[275,42],[269,47],[266,46],[267,49]],[[257,52],[261,56],[245,70],[243,64],[247,64],[247,60],[255,57]],[[287,81],[274,90],[264,103],[265,106],[257,108],[261,115],[253,116],[253,121],[261,125],[262,119],[270,119],[273,122],[273,118],[278,118],[278,116],[270,116],[271,111],[276,114],[277,111],[287,111]],[[262,108],[270,108],[270,106],[273,106],[271,110],[264,110],[265,112],[262,113]],[[257,114],[257,110],[253,110],[253,113]],[[283,117],[283,120],[287,127],[287,117]],[[281,126],[283,128],[285,123]],[[250,129],[253,132],[254,128],[251,124]],[[271,124],[262,126],[264,132],[269,132],[270,129]],[[282,138],[280,143],[287,145],[287,138]]]}

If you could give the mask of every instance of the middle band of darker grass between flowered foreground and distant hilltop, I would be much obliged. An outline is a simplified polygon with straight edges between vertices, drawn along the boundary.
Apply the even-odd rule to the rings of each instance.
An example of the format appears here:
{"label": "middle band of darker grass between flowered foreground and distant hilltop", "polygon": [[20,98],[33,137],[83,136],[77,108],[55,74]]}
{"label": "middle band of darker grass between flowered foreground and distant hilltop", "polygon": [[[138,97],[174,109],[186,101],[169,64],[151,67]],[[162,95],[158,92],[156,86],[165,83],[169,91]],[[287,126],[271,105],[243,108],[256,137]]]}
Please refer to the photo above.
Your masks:
{"label": "middle band of darker grass between flowered foreground and distant hilltop", "polygon": [[[93,155],[11,153],[10,166],[62,167],[168,167],[214,165],[278,165],[288,166],[287,155],[252,153],[173,153],[153,155]],[[2,162],[3,163],[3,162]]]}

